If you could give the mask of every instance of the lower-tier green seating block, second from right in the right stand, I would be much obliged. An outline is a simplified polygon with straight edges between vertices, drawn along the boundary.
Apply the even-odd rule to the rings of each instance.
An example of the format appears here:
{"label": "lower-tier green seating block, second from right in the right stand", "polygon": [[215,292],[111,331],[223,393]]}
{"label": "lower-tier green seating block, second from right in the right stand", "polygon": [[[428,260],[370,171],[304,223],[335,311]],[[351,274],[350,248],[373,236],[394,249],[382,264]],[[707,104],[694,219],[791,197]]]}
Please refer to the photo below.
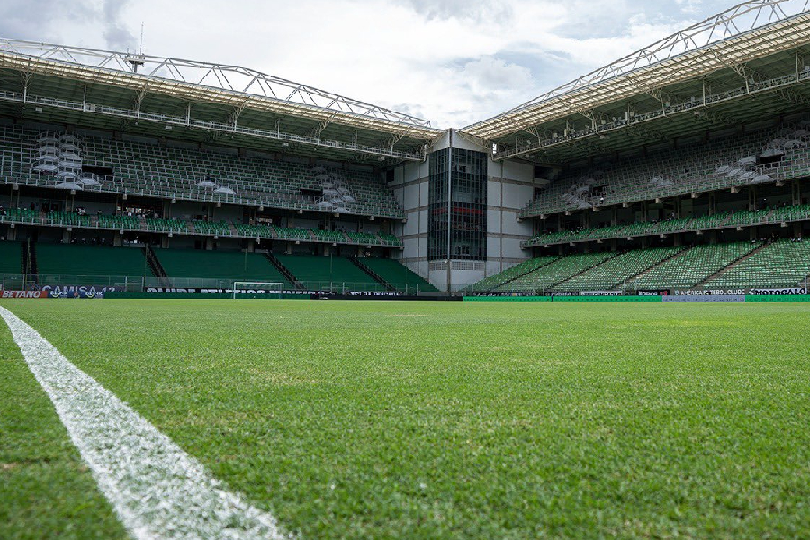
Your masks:
{"label": "lower-tier green seating block, second from right in the right stand", "polygon": [[759,247],[756,242],[696,246],[627,283],[632,289],[689,288]]}

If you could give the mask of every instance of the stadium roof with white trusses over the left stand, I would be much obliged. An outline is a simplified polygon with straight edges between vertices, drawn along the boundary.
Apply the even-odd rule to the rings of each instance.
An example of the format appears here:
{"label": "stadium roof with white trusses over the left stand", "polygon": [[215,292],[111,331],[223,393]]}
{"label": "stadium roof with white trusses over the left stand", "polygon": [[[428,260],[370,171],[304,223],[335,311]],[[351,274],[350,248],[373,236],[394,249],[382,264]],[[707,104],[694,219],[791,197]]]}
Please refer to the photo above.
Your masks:
{"label": "stadium roof with white trusses over the left stand", "polygon": [[41,121],[94,115],[97,127],[123,121],[128,131],[197,131],[202,140],[361,161],[423,159],[443,132],[246,67],[21,40],[0,39],[0,103],[0,112]]}

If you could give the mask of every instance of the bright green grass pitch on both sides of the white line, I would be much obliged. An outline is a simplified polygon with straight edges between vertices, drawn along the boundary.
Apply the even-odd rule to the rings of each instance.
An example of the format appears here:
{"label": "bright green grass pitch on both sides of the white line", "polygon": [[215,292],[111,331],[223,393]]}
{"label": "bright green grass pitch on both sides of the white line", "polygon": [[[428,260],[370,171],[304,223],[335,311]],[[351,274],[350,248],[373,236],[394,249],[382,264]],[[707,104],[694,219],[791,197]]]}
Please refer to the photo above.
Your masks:
{"label": "bright green grass pitch on both sides of the white line", "polygon": [[[810,537],[810,303],[0,305],[302,539]],[[0,358],[0,537],[124,536]]]}

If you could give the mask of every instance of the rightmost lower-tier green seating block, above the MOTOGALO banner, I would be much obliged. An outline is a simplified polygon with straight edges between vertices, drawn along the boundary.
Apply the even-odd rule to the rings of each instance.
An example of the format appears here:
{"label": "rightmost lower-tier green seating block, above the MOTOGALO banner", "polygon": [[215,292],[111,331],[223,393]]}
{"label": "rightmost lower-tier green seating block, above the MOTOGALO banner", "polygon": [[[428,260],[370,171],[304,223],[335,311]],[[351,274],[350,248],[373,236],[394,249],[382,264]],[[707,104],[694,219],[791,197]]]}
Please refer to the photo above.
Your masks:
{"label": "rightmost lower-tier green seating block, above the MOTOGALO banner", "polygon": [[707,287],[794,287],[810,275],[810,241],[779,240],[716,275]]}

